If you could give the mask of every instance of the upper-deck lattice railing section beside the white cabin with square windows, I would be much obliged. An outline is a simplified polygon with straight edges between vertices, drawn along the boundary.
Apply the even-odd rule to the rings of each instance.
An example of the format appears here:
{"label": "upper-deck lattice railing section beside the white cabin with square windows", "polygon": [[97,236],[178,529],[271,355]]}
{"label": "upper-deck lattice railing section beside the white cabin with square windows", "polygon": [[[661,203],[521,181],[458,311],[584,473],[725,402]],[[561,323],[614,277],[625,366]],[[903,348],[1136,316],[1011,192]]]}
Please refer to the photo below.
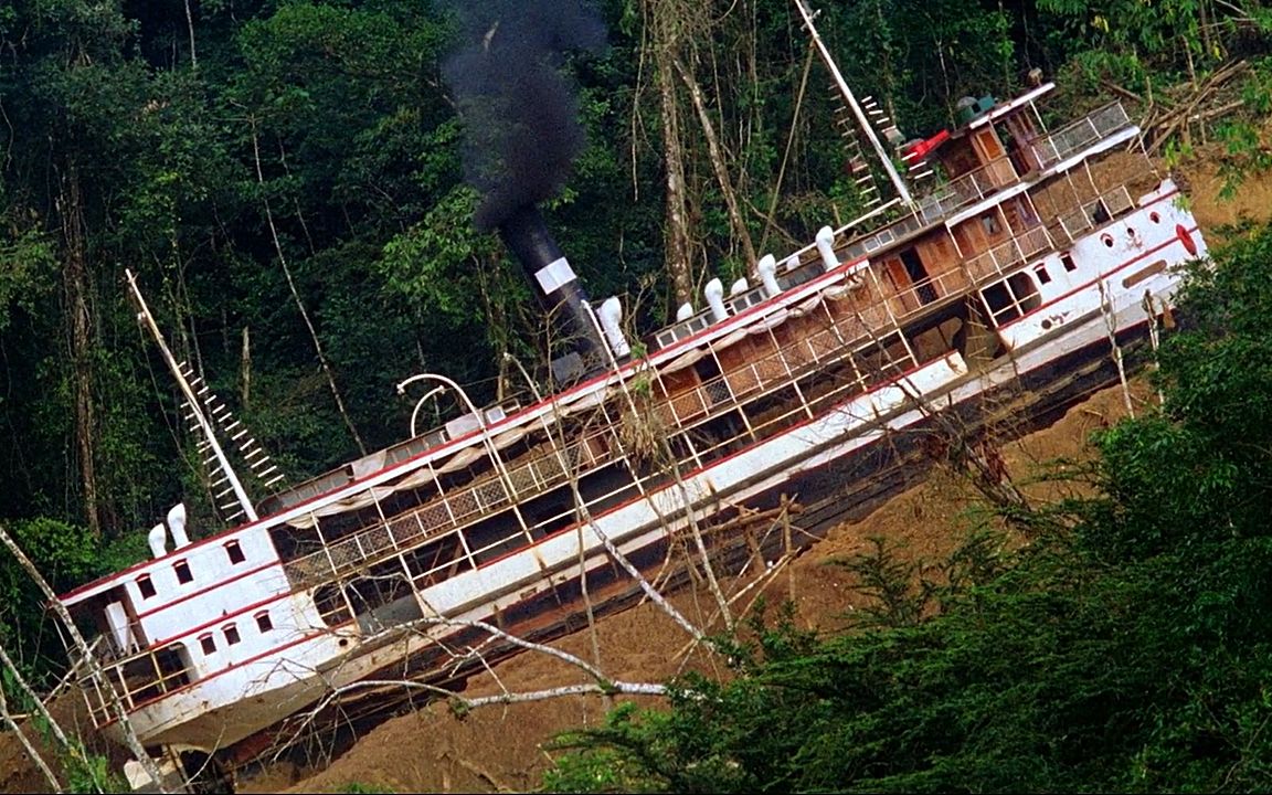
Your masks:
{"label": "upper-deck lattice railing section beside the white cabin with square windows", "polygon": [[[492,515],[514,502],[533,497],[569,481],[571,474],[608,463],[602,436],[608,429],[566,445],[561,455],[547,452],[508,467],[508,482],[491,473],[468,486],[443,492],[429,502],[326,544],[322,550],[284,563],[287,581],[300,589],[352,574],[449,530]],[[563,458],[563,460],[562,460]]]}

